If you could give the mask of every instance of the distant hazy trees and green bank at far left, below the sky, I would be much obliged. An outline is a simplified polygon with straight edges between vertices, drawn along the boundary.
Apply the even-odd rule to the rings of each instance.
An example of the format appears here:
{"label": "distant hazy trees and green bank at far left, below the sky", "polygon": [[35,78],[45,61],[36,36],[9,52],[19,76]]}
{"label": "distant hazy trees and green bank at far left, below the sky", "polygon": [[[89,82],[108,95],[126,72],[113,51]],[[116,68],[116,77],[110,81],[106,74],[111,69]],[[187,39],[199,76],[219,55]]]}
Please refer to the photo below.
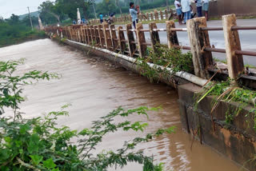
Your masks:
{"label": "distant hazy trees and green bank at far left, below the sky", "polygon": [[[38,19],[34,18],[34,26],[38,25]],[[17,15],[12,15],[10,19],[0,18],[0,47],[10,46],[28,40],[44,38],[45,33],[34,29],[31,30],[29,18],[19,20]]]}

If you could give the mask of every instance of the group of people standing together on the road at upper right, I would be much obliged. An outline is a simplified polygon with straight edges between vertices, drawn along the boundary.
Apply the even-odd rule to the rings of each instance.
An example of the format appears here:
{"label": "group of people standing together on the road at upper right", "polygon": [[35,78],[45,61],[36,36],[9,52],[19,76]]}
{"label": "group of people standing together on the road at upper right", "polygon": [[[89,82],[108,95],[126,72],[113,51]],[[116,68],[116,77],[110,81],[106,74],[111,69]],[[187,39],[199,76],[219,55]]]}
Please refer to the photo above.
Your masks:
{"label": "group of people standing together on the road at upper right", "polygon": [[[204,11],[206,20],[208,21],[209,0],[196,0],[194,2],[197,6],[198,17],[201,18],[202,11]],[[175,0],[174,6],[176,8],[179,24],[182,24],[183,19],[184,24],[186,24],[186,21],[194,18],[195,14],[190,0],[181,0],[181,2]]]}

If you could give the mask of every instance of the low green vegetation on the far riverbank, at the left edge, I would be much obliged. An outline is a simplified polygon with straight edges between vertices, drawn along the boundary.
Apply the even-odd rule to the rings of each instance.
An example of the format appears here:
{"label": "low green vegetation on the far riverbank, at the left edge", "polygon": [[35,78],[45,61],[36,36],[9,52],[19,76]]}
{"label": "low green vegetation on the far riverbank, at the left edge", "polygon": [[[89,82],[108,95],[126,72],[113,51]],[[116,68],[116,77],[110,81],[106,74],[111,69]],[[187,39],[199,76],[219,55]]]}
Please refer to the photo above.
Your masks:
{"label": "low green vegetation on the far riverbank, at the left edge", "polygon": [[0,48],[38,38],[46,38],[46,34],[21,23],[0,22]]}

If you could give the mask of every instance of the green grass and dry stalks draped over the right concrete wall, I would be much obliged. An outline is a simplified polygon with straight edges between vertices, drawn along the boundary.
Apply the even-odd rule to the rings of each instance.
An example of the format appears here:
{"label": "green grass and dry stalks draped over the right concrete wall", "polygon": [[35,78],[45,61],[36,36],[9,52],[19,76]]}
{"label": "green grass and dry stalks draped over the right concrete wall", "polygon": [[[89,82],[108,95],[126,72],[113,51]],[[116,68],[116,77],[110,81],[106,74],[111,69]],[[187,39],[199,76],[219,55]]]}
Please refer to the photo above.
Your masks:
{"label": "green grass and dry stalks draped over the right concrete wall", "polygon": [[252,118],[254,119],[254,129],[256,131],[256,91],[234,86],[233,81],[230,79],[226,82],[210,82],[202,87],[201,92],[195,95],[194,109],[198,109],[198,104],[207,96],[213,97],[211,109],[212,121],[214,120],[214,110],[218,108],[218,105],[222,101],[234,101],[237,103],[237,107],[226,110],[226,124],[232,124],[234,117],[237,117],[242,109],[249,105],[251,109],[246,114],[245,119],[249,123],[250,114],[253,114]]}

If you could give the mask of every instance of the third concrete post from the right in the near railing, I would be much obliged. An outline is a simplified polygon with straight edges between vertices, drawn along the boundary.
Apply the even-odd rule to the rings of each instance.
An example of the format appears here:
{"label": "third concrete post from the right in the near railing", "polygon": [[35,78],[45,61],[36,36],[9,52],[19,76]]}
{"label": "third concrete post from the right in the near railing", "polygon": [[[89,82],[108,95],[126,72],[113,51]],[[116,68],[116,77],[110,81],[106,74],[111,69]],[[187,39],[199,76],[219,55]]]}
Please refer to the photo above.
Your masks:
{"label": "third concrete post from the right in the near railing", "polygon": [[174,48],[174,46],[178,46],[178,36],[177,32],[171,30],[175,28],[174,21],[166,21],[166,34],[167,34],[167,43],[169,48]]}

